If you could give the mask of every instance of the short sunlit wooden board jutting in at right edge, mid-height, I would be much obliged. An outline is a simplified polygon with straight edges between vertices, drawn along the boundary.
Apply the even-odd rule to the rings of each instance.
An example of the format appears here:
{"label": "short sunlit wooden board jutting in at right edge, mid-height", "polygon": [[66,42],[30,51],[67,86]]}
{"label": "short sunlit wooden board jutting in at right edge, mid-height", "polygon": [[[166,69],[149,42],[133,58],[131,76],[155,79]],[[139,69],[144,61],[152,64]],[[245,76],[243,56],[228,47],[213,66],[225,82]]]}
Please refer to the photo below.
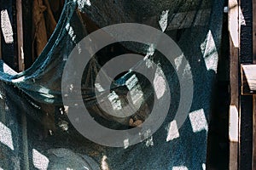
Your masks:
{"label": "short sunlit wooden board jutting in at right edge, mid-height", "polygon": [[241,94],[256,94],[256,65],[241,65]]}

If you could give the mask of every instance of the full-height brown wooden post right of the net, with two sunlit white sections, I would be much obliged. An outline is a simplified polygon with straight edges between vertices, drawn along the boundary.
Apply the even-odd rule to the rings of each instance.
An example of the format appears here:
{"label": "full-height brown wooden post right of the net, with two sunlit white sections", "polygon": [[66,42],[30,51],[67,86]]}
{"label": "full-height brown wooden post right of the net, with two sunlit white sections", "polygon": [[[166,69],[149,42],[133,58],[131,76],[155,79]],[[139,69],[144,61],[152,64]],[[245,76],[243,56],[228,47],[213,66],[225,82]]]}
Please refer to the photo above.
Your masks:
{"label": "full-height brown wooden post right of the net, with two sunlit white sections", "polygon": [[236,170],[239,166],[239,8],[236,0],[229,0],[229,31],[230,31],[230,158],[229,169]]}

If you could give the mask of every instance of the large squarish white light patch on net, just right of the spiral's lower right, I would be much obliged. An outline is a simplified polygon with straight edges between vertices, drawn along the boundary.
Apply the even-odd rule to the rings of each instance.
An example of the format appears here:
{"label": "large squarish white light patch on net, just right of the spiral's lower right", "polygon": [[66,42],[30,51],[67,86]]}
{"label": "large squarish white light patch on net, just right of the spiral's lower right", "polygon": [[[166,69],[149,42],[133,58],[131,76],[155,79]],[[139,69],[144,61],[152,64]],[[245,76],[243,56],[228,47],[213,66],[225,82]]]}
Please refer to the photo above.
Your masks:
{"label": "large squarish white light patch on net, just right of the spiral's lower right", "polygon": [[203,109],[189,113],[189,120],[194,133],[208,131],[207,118]]}

